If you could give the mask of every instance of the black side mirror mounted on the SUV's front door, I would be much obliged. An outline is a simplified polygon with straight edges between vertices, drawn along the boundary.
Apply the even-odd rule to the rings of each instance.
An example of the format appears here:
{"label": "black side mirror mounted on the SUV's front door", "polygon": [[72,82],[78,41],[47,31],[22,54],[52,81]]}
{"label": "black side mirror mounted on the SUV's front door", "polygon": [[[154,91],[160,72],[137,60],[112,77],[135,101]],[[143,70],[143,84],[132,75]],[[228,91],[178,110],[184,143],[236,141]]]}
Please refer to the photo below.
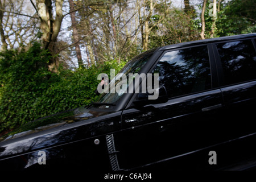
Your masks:
{"label": "black side mirror mounted on the SUV's front door", "polygon": [[149,105],[149,104],[161,104],[168,101],[168,94],[164,86],[160,86],[154,89],[152,94],[149,93],[139,93],[138,99],[134,101],[134,105]]}

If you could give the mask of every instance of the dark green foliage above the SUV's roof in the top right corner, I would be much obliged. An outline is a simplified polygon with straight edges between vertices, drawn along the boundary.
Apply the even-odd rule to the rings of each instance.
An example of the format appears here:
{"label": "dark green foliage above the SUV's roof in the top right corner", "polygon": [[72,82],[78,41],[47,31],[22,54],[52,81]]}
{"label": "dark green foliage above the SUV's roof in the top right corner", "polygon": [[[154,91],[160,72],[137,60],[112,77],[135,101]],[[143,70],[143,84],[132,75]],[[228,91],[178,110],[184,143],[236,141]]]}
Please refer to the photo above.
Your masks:
{"label": "dark green foliage above the SUV's roof in the top right corner", "polygon": [[[212,1],[207,2],[207,7]],[[217,30],[214,37],[249,34],[256,32],[256,2],[254,0],[236,0],[221,3],[217,12]],[[213,17],[209,16],[209,8],[205,11],[205,38],[210,38]]]}

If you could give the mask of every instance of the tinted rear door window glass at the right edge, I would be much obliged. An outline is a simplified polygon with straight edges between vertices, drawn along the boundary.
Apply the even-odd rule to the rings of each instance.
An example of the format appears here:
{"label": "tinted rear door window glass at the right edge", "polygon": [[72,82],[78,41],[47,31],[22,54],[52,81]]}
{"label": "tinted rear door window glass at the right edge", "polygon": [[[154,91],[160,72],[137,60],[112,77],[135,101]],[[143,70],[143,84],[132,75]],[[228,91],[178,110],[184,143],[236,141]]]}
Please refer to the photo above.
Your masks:
{"label": "tinted rear door window glass at the right edge", "polygon": [[256,79],[256,54],[251,40],[216,44],[225,85]]}

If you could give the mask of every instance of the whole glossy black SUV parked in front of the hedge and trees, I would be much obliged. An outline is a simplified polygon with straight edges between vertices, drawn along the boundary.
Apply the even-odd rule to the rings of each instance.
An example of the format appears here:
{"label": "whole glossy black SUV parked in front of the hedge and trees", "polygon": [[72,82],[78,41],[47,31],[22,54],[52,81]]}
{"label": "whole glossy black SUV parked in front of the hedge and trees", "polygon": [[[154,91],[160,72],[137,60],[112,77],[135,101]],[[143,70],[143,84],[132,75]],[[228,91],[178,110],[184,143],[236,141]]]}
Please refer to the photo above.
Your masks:
{"label": "whole glossy black SUV parked in front of the hedge and trees", "polygon": [[256,34],[247,34],[144,52],[121,73],[158,74],[158,98],[102,93],[89,106],[30,122],[1,138],[0,168],[89,173],[253,166],[255,50]]}

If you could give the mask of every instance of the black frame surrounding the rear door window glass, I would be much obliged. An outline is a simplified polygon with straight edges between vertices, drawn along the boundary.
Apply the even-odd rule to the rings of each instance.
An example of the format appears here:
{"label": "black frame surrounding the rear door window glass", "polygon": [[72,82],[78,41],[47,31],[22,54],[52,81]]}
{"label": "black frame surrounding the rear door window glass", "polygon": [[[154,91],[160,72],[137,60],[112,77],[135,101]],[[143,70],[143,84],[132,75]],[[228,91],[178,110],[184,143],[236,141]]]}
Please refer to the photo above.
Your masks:
{"label": "black frame surrounding the rear door window glass", "polygon": [[251,81],[256,81],[256,78],[255,78],[253,80],[236,82],[234,84],[225,84],[224,70],[223,70],[223,67],[222,67],[220,54],[218,53],[218,49],[217,49],[216,44],[228,43],[228,42],[237,42],[237,41],[243,41],[243,40],[251,40],[251,43],[253,44],[253,47],[254,47],[254,50],[255,50],[255,53],[256,53],[256,44],[255,44],[256,38],[224,40],[224,41],[212,43],[213,53],[214,53],[214,57],[215,57],[216,67],[217,67],[218,85],[220,86],[220,88],[224,88],[226,86],[243,84],[243,83],[247,83],[247,82],[251,82]]}

